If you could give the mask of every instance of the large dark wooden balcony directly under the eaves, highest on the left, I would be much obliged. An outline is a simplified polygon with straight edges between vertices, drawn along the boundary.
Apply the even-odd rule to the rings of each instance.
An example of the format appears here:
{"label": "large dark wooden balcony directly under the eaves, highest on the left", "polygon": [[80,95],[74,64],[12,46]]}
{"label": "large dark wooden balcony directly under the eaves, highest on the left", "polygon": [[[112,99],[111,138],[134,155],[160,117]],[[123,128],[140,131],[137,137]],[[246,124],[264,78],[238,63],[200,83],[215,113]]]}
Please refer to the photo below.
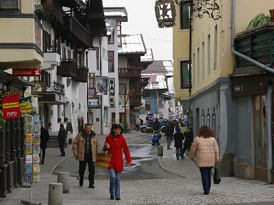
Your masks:
{"label": "large dark wooden balcony directly under the eaves, highest on the left", "polygon": [[79,21],[74,16],[64,16],[64,27],[62,29],[62,33],[66,39],[69,38],[68,34],[71,33],[87,47],[92,46],[90,32],[88,29],[86,29],[86,27],[79,23]]}

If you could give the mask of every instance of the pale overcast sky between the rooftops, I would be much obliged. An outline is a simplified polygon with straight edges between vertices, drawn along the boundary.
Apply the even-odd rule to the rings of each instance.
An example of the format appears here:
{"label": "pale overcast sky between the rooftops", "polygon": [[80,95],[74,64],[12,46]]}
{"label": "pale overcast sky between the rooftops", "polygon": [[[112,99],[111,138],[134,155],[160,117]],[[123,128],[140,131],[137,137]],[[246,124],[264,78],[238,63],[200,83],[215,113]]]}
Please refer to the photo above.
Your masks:
{"label": "pale overcast sky between the rooftops", "polygon": [[172,28],[159,28],[155,18],[155,0],[103,0],[103,7],[125,7],[127,21],[122,23],[123,34],[142,33],[147,49],[154,59],[172,60]]}

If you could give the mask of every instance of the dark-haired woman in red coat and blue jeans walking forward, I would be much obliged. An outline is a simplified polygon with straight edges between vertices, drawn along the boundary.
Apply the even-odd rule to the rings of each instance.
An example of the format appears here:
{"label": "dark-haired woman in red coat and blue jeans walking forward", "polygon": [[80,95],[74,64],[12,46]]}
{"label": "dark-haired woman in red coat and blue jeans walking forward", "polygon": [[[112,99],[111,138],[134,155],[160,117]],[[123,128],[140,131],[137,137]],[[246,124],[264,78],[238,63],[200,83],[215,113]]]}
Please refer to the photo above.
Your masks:
{"label": "dark-haired woman in red coat and blue jeans walking forward", "polygon": [[132,164],[132,158],[130,157],[125,137],[122,135],[122,126],[120,124],[112,125],[110,135],[105,137],[104,148],[108,150],[108,154],[112,155],[110,167],[108,167],[110,170],[110,200],[114,200],[114,196],[116,200],[121,200],[120,180],[121,172],[123,172],[122,148],[129,167]]}

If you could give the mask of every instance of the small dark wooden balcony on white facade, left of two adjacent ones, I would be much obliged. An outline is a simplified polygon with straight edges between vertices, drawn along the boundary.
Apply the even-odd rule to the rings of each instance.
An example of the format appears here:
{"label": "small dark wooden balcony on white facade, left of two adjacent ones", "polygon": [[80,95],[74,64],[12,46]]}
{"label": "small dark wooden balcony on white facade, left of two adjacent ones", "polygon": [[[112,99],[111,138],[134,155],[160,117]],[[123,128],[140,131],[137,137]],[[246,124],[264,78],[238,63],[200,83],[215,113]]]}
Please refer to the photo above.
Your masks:
{"label": "small dark wooden balcony on white facade, left of two adjacent ones", "polygon": [[57,66],[57,74],[62,77],[76,77],[77,62],[73,59],[61,59],[61,65]]}

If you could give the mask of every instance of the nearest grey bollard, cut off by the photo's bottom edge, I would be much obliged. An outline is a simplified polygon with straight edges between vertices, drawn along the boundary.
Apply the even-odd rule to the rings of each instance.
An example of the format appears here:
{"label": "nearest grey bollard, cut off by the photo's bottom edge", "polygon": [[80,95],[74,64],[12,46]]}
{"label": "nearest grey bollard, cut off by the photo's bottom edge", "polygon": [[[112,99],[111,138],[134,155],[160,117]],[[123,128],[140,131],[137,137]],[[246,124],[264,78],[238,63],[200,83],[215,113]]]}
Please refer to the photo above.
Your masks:
{"label": "nearest grey bollard, cut off by the photo's bottom edge", "polygon": [[63,204],[63,184],[49,183],[49,205]]}

